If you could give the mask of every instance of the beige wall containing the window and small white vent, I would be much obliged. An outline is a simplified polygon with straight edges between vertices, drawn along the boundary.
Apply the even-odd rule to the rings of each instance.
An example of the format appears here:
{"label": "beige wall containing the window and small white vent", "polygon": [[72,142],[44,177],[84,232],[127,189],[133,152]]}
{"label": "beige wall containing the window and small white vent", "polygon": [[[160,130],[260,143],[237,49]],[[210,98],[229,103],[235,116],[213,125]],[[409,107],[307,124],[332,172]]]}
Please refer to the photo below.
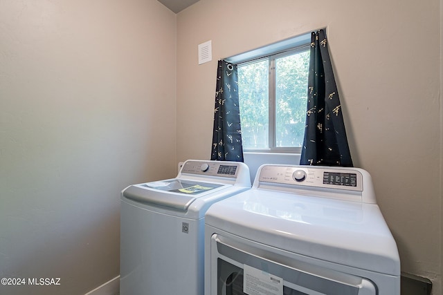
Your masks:
{"label": "beige wall containing the window and small white vent", "polygon": [[[355,166],[404,272],[440,294],[440,0],[201,0],[177,15],[177,160],[210,158],[217,59],[327,27]],[[212,40],[213,61],[197,46]]]}

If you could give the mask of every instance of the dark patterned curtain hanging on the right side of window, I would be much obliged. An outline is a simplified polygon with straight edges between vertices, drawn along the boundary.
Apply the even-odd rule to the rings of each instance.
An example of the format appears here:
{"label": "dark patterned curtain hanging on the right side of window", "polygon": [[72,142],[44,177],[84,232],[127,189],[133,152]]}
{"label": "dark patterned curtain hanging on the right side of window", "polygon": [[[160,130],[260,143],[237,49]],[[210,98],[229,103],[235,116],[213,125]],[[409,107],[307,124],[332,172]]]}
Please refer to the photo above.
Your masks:
{"label": "dark patterned curtain hanging on the right side of window", "polygon": [[325,32],[311,33],[305,139],[300,164],[352,166]]}

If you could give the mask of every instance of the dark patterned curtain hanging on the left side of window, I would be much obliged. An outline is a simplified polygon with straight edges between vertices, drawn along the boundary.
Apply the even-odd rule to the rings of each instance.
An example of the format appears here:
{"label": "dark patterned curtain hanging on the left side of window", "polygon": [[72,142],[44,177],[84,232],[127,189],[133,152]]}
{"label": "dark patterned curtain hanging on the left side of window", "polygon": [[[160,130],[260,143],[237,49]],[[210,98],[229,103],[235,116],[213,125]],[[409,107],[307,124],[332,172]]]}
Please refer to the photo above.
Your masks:
{"label": "dark patterned curtain hanging on the left side of window", "polygon": [[211,160],[243,162],[237,65],[219,60]]}

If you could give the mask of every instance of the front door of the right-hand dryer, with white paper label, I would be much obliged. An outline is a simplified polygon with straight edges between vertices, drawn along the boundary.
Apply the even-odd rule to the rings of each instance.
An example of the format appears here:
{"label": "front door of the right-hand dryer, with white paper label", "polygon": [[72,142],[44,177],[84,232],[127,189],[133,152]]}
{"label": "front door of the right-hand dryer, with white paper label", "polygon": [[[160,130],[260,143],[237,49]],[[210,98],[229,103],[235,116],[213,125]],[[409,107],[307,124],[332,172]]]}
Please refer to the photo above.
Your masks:
{"label": "front door of the right-hand dryer, with white paper label", "polygon": [[377,294],[370,280],[298,261],[264,247],[254,248],[214,234],[210,295]]}

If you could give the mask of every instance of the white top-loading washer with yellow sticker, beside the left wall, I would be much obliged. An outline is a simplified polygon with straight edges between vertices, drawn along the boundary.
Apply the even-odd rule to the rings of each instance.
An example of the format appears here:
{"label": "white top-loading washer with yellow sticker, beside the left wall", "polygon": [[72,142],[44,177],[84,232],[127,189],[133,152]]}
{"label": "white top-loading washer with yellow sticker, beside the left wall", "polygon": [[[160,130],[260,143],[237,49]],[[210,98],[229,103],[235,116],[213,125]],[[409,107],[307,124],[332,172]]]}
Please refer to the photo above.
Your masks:
{"label": "white top-loading washer with yellow sticker, beside the left wall", "polygon": [[120,294],[203,295],[204,213],[250,188],[242,162],[188,160],[177,178],[124,189]]}

